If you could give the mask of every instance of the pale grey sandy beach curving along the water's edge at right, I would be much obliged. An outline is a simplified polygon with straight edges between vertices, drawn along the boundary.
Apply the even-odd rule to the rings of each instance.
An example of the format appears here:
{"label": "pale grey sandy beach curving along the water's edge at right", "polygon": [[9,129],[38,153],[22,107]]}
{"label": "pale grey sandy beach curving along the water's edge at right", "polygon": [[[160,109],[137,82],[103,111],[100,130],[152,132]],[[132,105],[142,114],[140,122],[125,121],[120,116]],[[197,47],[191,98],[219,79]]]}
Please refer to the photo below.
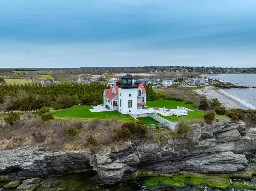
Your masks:
{"label": "pale grey sandy beach curving along the water's edge at right", "polygon": [[208,90],[208,89],[202,88],[196,91],[201,95],[205,95],[207,99],[217,98],[220,101],[220,103],[223,103],[223,105],[229,109],[234,109],[234,108],[250,109],[249,107],[239,103],[238,101],[224,95],[218,90]]}

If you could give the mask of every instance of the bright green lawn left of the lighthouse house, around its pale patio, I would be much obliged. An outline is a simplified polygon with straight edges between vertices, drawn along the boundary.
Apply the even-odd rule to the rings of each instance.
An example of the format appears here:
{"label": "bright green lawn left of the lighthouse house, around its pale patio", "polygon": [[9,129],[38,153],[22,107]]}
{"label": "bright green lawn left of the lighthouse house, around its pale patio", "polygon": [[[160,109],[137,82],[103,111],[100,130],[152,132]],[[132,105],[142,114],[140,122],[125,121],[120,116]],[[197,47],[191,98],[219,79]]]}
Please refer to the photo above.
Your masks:
{"label": "bright green lawn left of the lighthouse house, around its pale patio", "polygon": [[92,106],[78,105],[69,107],[67,109],[62,109],[56,113],[52,113],[56,117],[60,118],[90,118],[90,119],[106,119],[106,116],[118,116],[120,122],[129,121],[128,114],[120,114],[118,111],[102,111],[102,112],[91,112],[89,109],[93,109]]}

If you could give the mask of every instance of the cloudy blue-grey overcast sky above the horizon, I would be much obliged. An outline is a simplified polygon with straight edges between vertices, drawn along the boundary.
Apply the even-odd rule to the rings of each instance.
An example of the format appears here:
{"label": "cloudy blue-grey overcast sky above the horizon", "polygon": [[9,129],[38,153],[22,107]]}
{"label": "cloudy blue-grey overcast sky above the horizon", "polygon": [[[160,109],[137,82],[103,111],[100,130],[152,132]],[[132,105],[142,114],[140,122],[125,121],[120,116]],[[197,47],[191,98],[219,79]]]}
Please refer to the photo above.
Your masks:
{"label": "cloudy blue-grey overcast sky above the horizon", "polygon": [[0,67],[255,67],[255,53],[255,0],[0,0]]}

